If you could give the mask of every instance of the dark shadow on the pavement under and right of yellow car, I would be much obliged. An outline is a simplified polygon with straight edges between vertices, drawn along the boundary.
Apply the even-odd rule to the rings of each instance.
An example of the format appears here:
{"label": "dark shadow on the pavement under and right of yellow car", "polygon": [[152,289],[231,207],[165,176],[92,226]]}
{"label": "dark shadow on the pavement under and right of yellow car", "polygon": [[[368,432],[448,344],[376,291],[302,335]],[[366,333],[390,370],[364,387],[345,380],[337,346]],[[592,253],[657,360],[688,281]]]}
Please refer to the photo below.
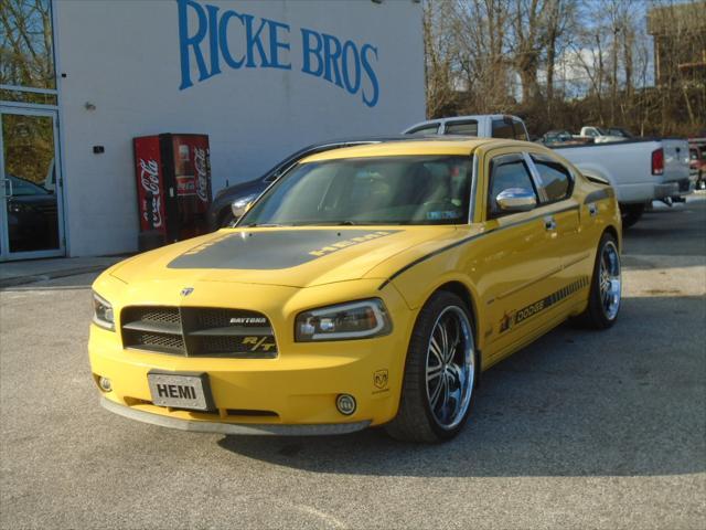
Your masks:
{"label": "dark shadow on the pavement under and right of yellow car", "polygon": [[373,428],[329,437],[235,437],[227,451],[322,474],[656,476],[706,470],[706,304],[625,298],[609,331],[566,324],[483,374],[453,441]]}

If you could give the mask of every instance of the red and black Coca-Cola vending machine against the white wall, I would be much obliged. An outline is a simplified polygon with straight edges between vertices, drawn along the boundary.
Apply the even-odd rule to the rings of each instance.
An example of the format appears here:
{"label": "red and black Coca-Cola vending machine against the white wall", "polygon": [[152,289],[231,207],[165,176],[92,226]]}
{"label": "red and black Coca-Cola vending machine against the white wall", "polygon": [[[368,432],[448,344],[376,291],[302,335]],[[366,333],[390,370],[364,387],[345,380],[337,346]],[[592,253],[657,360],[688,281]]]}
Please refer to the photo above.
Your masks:
{"label": "red and black Coca-Cola vending machine against the white wall", "polygon": [[133,139],[141,251],[205,234],[211,204],[206,135]]}

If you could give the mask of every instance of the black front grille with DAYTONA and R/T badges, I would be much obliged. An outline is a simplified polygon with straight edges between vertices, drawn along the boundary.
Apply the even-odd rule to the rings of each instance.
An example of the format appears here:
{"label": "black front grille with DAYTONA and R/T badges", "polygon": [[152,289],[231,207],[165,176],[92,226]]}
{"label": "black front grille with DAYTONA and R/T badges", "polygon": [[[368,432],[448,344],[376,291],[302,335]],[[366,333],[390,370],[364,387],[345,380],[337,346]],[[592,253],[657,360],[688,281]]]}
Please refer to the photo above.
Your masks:
{"label": "black front grille with DAYTONA and R/T badges", "polygon": [[267,317],[243,309],[131,306],[120,316],[125,348],[186,357],[272,359]]}

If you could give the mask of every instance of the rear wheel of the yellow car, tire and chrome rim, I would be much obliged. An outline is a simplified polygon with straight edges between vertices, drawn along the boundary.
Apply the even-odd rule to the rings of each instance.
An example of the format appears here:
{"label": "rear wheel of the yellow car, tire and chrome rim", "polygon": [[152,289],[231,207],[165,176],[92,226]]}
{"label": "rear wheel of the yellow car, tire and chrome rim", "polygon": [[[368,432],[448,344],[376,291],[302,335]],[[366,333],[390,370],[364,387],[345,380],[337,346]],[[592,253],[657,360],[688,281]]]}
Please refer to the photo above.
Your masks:
{"label": "rear wheel of the yellow car, tire and chrome rim", "polygon": [[588,328],[608,329],[616,324],[622,296],[620,253],[616,237],[606,232],[598,244],[588,307],[578,320]]}

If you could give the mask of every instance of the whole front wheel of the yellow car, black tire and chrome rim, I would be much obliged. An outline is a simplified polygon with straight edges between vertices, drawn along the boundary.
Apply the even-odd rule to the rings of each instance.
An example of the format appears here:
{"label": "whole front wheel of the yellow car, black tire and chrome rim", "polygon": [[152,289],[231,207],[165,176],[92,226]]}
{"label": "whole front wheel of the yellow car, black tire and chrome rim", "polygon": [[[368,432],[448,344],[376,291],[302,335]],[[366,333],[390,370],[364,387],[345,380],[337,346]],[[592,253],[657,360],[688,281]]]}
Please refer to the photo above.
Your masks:
{"label": "whole front wheel of the yellow car, black tire and chrome rim", "polygon": [[461,431],[479,371],[471,321],[452,293],[438,292],[424,306],[409,341],[399,410],[386,425],[391,436],[434,443]]}

